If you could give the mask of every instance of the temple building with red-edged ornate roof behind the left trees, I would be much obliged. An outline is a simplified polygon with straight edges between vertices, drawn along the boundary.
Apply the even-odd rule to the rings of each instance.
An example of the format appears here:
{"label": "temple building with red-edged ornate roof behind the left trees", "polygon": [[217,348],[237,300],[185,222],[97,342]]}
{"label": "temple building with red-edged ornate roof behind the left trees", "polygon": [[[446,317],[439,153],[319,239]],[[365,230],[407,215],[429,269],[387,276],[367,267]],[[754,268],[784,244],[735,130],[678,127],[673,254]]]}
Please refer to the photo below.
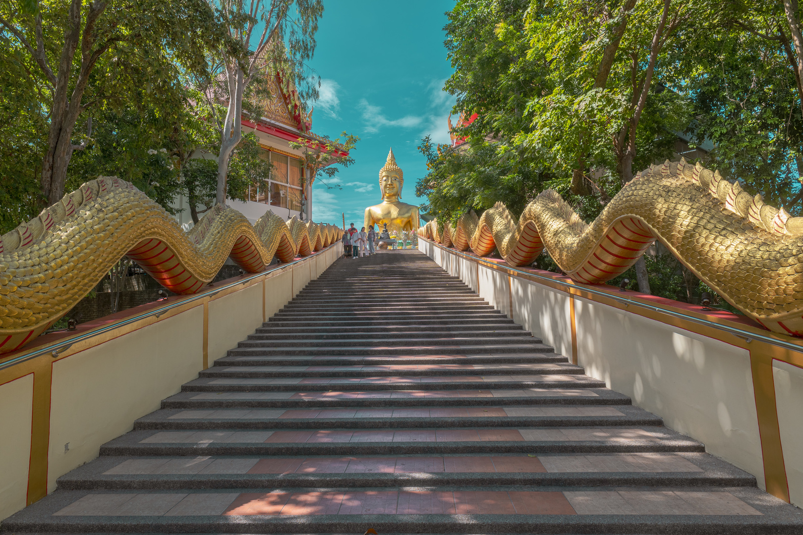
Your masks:
{"label": "temple building with red-edged ornate roof behind the left trees", "polygon": [[[266,83],[272,98],[263,101],[263,116],[259,120],[243,114],[243,133],[255,133],[262,148],[260,156],[270,160],[274,166],[268,187],[251,188],[247,201],[226,199],[226,204],[243,213],[252,224],[264,215],[267,208],[279,217],[289,219],[296,216],[309,220],[312,219],[313,184],[304,180],[304,176],[310,171],[304,168],[303,150],[291,148],[289,142],[303,138],[311,144],[324,144],[325,140],[312,132],[312,110],[304,111],[290,80],[276,73],[267,76]],[[214,159],[215,156],[206,153],[199,157]],[[306,196],[303,184],[307,184]],[[176,216],[179,224],[192,223],[190,211],[185,209],[186,198],[178,196],[175,205],[184,209]]]}

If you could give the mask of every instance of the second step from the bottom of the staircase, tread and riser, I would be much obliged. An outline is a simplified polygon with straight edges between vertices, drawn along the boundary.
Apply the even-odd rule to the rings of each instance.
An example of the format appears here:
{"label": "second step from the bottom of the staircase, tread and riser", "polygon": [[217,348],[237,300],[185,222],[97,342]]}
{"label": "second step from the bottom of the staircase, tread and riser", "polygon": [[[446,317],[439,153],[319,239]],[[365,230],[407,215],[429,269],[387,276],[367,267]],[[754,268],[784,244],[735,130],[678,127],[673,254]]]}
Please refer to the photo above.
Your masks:
{"label": "second step from the bottom of the staircase, tread and riser", "polygon": [[104,456],[57,481],[63,490],[271,487],[736,487],[756,478],[704,453],[445,456]]}

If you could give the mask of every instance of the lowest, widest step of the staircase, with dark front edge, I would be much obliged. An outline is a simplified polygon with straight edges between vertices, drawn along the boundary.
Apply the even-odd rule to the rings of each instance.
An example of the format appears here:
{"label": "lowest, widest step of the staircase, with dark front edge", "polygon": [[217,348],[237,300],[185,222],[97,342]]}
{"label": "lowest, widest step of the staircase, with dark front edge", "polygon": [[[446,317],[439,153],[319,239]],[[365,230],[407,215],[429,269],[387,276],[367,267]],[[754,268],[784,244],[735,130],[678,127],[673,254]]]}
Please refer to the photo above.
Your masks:
{"label": "lowest, widest step of the staircase, with dark front edge", "polygon": [[[797,535],[799,509],[758,488],[356,487],[248,492],[58,490],[4,533],[695,533]],[[613,497],[615,496],[615,498]],[[638,508],[638,509],[637,509]],[[468,524],[468,525],[467,525]]]}

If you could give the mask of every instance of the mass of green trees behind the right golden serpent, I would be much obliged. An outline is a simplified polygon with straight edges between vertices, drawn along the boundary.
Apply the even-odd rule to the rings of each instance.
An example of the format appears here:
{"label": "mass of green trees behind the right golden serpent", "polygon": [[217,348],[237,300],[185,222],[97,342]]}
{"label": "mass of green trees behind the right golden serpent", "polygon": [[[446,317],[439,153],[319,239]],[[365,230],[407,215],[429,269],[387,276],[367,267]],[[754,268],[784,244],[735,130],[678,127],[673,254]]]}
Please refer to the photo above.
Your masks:
{"label": "mass of green trees behind the right golden serpent", "polygon": [[[622,184],[683,146],[748,191],[801,213],[803,35],[795,0],[458,0],[447,13],[458,148],[419,149],[423,208],[454,221],[544,188],[587,221]],[[713,150],[711,150],[713,148]],[[556,269],[544,254],[537,265]],[[699,282],[666,251],[639,287],[691,300]],[[642,285],[642,282],[644,283]]]}

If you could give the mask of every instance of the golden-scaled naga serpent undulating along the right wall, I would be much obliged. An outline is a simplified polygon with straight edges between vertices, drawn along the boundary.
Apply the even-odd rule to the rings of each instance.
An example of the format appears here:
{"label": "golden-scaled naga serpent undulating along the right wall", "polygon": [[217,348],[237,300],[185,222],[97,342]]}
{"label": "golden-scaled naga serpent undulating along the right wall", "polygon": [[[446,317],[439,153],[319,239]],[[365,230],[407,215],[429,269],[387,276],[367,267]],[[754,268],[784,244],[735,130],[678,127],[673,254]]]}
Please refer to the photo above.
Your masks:
{"label": "golden-scaled naga serpent undulating along the right wall", "polygon": [[590,225],[558,193],[545,190],[518,224],[502,203],[430,221],[419,235],[479,256],[494,249],[529,265],[546,247],[576,282],[622,274],[658,239],[698,278],[768,330],[803,335],[803,217],[765,205],[702,165],[650,166],[626,184]]}

